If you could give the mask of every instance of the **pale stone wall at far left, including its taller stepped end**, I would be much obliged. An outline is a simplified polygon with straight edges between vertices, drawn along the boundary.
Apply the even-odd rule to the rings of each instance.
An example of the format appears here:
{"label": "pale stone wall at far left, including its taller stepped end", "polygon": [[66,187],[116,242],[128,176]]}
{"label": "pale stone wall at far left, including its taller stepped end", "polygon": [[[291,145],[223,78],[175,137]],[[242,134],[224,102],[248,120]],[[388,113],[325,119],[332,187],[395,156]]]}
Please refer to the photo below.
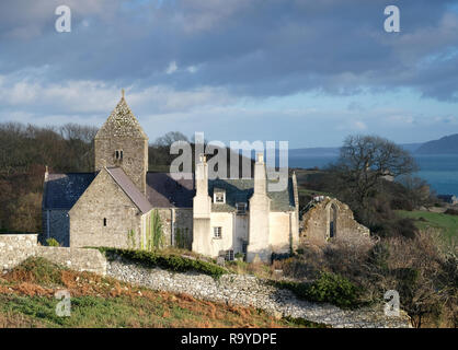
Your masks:
{"label": "pale stone wall at far left, including its taller stepped end", "polygon": [[38,256],[77,271],[106,273],[106,259],[96,249],[37,245],[37,234],[0,234],[0,271]]}

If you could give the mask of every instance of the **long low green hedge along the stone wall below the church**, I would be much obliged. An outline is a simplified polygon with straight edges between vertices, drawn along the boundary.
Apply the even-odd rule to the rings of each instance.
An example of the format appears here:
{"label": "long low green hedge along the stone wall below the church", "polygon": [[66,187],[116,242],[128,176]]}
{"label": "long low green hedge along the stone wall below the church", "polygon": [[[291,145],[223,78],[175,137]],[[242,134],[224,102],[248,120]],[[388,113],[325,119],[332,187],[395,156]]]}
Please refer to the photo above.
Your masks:
{"label": "long low green hedge along the stone wall below the church", "polygon": [[121,256],[127,260],[139,262],[146,267],[160,267],[165,270],[185,272],[197,271],[209,275],[214,278],[219,278],[228,271],[222,267],[202,260],[194,260],[173,254],[160,254],[157,252],[134,250],[134,249],[118,249],[108,247],[99,247],[100,252],[105,254],[107,258]]}

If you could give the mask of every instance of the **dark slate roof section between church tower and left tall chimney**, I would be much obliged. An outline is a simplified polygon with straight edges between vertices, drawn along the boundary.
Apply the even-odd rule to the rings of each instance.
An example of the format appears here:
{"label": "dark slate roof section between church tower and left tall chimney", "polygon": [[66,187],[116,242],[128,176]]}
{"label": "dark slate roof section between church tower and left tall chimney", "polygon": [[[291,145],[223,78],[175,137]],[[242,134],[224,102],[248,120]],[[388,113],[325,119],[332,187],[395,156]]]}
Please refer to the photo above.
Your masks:
{"label": "dark slate roof section between church tower and left tall chimney", "polygon": [[169,173],[147,174],[147,197],[154,208],[193,208],[194,175],[175,180]]}

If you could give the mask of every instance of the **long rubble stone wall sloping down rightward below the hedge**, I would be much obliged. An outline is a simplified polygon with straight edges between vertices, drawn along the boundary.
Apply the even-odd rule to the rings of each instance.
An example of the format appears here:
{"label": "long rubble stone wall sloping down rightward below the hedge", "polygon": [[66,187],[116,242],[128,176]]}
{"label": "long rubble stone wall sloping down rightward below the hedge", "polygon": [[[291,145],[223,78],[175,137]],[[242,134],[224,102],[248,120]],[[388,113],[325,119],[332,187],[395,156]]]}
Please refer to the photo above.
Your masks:
{"label": "long rubble stone wall sloping down rightward below the hedge", "polygon": [[107,262],[107,276],[153,290],[186,293],[196,299],[262,308],[275,317],[293,316],[324,323],[332,327],[411,327],[410,319],[387,317],[382,305],[375,308],[343,311],[329,304],[298,300],[290,291],[277,289],[254,276],[224,275],[219,280],[210,276],[169,272],[159,268],[144,268],[117,259]]}

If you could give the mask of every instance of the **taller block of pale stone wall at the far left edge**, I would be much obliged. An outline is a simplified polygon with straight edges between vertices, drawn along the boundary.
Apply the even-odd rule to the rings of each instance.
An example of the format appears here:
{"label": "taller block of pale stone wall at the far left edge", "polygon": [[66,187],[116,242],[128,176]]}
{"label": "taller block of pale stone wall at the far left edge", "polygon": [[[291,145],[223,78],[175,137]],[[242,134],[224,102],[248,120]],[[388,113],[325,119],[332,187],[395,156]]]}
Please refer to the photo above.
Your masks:
{"label": "taller block of pale stone wall at the far left edge", "polygon": [[0,234],[0,271],[35,255],[37,234]]}

